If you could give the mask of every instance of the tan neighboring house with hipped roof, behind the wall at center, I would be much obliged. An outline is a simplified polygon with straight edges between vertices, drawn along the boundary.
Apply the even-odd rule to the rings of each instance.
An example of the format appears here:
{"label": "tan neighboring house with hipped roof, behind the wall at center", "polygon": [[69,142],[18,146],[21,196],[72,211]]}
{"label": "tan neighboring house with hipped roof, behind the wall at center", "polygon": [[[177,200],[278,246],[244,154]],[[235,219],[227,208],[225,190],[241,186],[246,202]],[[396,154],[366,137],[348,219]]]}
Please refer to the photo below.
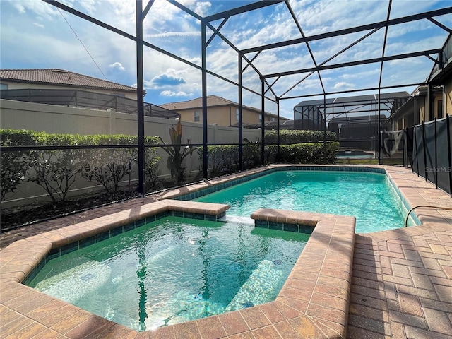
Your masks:
{"label": "tan neighboring house with hipped roof, behind the wall at center", "polygon": [[[181,102],[169,102],[160,105],[165,109],[181,114],[182,121],[203,122],[202,97]],[[261,127],[261,109],[243,106],[242,125],[247,128]],[[238,126],[239,125],[239,104],[217,95],[207,97],[207,119],[208,124],[218,124],[218,126]],[[277,121],[278,116],[266,112],[264,122]],[[281,124],[288,119],[280,117]]]}

